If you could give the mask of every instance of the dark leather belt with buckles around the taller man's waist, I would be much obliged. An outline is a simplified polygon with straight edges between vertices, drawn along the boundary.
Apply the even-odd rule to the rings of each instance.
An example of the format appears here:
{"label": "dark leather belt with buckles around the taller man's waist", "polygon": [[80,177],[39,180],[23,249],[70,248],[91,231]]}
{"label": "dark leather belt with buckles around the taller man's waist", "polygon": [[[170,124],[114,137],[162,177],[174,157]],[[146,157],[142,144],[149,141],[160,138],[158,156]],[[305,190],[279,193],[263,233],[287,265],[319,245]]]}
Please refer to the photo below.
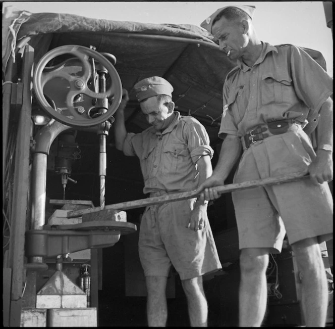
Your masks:
{"label": "dark leather belt with buckles around the taller man's waist", "polygon": [[291,130],[291,127],[296,126],[297,123],[293,120],[272,121],[254,127],[241,140],[244,149],[248,149],[252,144],[273,135],[280,135]]}

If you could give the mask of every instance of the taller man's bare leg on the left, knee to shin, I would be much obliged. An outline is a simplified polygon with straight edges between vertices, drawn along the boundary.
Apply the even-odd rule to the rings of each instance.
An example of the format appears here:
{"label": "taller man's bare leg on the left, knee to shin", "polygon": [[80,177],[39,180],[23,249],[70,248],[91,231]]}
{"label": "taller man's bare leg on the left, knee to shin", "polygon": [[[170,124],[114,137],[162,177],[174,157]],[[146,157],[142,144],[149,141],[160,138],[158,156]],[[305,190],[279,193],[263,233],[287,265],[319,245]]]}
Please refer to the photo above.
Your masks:
{"label": "taller man's bare leg on the left, knee to shin", "polygon": [[241,283],[239,294],[240,326],[260,326],[266,311],[266,269],[268,249],[241,250]]}

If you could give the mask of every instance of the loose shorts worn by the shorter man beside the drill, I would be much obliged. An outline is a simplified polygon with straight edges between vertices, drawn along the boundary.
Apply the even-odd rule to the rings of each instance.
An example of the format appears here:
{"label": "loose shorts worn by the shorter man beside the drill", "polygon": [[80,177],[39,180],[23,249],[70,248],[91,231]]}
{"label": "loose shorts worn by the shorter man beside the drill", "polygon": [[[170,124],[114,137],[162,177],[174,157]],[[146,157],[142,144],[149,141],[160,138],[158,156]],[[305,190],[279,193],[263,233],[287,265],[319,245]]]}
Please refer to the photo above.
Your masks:
{"label": "loose shorts worn by the shorter man beside the drill", "polygon": [[221,268],[209,223],[187,228],[196,199],[147,207],[142,216],[139,255],[144,275],[168,276],[171,264],[182,280]]}

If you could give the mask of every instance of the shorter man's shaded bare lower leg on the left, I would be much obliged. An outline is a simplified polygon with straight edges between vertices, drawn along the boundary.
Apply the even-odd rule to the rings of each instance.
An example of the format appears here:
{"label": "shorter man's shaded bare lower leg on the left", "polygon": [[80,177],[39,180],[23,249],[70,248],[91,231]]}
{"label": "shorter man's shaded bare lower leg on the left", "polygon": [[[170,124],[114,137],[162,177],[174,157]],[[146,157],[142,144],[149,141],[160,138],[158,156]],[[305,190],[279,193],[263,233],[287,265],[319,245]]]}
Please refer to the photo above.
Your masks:
{"label": "shorter man's shaded bare lower leg on the left", "polygon": [[165,276],[146,276],[148,326],[165,326],[167,320]]}

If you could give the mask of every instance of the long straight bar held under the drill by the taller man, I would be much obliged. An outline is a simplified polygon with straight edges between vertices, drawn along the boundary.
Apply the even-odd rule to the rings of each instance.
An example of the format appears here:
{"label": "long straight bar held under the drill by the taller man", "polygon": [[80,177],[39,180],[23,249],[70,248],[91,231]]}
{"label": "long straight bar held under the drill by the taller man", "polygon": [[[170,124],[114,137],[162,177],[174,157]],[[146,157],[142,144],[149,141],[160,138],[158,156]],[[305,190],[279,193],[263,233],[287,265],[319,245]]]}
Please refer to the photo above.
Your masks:
{"label": "long straight bar held under the drill by the taller man", "polygon": [[[265,179],[257,179],[257,180],[250,180],[244,181],[241,183],[233,183],[227,185],[216,186],[215,189],[219,194],[228,193],[238,190],[245,190],[245,189],[252,189],[253,187],[259,187],[264,185],[274,185],[274,184],[281,184],[285,182],[291,182],[303,178],[309,178],[306,173],[294,173],[288,174],[282,177],[269,177]],[[174,194],[167,194],[159,197],[153,198],[146,198],[134,201],[127,201],[116,203],[114,205],[107,205],[104,207],[105,210],[107,209],[115,209],[115,210],[127,210],[127,209],[134,209],[134,208],[141,208],[145,206],[151,206],[155,204],[162,204],[166,202],[173,202],[185,199],[191,199],[198,197],[199,194],[196,194],[195,191],[189,192],[182,192],[182,193],[174,193]],[[68,218],[79,217],[84,214],[94,213],[100,211],[100,207],[88,208],[83,210],[76,210],[76,211],[69,211],[67,214]]]}

